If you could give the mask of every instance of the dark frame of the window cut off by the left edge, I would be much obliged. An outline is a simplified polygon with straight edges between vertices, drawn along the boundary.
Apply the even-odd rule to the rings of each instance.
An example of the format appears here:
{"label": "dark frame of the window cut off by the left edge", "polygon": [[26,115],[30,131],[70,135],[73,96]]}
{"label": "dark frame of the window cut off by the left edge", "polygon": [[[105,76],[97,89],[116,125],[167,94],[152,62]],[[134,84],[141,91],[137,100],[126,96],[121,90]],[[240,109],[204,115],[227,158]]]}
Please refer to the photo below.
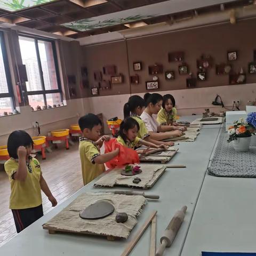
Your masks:
{"label": "dark frame of the window cut off by the left edge", "polygon": [[11,105],[12,105],[11,107],[13,111],[16,108],[15,98],[14,98],[12,79],[11,79],[11,73],[10,73],[10,67],[9,67],[10,63],[7,55],[5,36],[3,31],[0,31],[0,40],[1,40],[1,50],[3,55],[3,61],[4,61],[5,77],[6,77],[7,89],[8,89],[8,92],[0,93],[0,98],[11,98]]}

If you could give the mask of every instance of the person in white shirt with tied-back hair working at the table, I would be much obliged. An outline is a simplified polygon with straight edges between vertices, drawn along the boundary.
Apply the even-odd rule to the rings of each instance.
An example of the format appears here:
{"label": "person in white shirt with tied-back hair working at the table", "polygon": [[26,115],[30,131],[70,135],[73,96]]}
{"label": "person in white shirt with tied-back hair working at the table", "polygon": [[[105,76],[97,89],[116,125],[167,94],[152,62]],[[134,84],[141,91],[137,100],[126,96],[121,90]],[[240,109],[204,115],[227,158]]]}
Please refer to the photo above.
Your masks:
{"label": "person in white shirt with tied-back hair working at the table", "polygon": [[146,108],[141,114],[141,119],[145,123],[150,137],[154,140],[164,140],[170,137],[180,137],[182,131],[186,130],[183,126],[164,126],[159,124],[152,116],[158,114],[162,107],[163,97],[158,93],[146,93],[144,95]]}

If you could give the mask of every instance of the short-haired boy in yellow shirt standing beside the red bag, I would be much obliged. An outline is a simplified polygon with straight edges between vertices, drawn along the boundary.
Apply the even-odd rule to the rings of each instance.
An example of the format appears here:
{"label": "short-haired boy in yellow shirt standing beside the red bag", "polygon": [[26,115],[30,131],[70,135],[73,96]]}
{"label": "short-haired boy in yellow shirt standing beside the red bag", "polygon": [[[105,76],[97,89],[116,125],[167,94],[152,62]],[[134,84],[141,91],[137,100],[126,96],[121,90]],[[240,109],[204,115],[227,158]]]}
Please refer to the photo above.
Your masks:
{"label": "short-haired boy in yellow shirt standing beside the red bag", "polygon": [[100,155],[99,148],[110,137],[105,135],[100,138],[102,124],[98,116],[87,114],[79,119],[78,124],[83,132],[83,137],[79,138],[79,153],[83,182],[86,185],[105,171],[104,163],[117,156],[119,149]]}

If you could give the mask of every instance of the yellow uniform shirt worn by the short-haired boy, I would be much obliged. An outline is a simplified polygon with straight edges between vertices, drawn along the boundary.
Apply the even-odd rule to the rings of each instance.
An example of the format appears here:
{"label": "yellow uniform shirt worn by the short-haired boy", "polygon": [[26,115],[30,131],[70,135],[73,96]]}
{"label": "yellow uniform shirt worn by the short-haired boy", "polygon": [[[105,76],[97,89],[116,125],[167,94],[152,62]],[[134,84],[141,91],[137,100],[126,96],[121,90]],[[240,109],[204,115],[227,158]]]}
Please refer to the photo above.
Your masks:
{"label": "yellow uniform shirt worn by the short-haired boy", "polygon": [[79,138],[79,153],[82,164],[83,182],[86,185],[103,173],[105,166],[94,163],[94,158],[100,155],[100,151],[94,141]]}

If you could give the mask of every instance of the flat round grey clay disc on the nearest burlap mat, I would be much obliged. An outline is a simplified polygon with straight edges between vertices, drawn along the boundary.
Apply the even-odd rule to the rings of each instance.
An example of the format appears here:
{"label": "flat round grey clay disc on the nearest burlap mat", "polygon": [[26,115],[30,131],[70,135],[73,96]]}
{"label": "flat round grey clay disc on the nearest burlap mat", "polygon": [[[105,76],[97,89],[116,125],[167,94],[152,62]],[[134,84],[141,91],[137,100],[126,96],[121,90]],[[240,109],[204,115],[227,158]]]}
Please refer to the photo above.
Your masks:
{"label": "flat round grey clay disc on the nearest burlap mat", "polygon": [[81,213],[80,217],[87,220],[98,220],[103,219],[113,213],[115,208],[112,204],[107,201],[100,200],[94,204],[86,207]]}

